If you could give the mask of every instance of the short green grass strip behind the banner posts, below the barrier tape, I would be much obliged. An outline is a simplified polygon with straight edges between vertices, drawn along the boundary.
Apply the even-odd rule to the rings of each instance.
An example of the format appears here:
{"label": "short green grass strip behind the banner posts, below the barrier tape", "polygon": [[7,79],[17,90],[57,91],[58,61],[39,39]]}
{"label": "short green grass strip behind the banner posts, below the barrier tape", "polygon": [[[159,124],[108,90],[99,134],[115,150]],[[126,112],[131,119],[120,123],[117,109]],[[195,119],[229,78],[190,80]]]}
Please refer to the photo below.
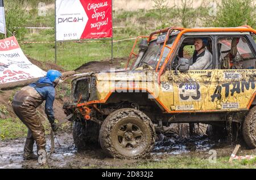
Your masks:
{"label": "short green grass strip behind the banner posts, below the barrier tape", "polygon": [[[110,42],[110,41],[109,41]],[[133,41],[117,42],[113,47],[113,57],[127,57]],[[24,54],[43,62],[55,62],[54,44],[23,44]],[[65,70],[74,70],[89,61],[111,58],[111,44],[102,42],[73,43],[57,45],[57,65]]]}

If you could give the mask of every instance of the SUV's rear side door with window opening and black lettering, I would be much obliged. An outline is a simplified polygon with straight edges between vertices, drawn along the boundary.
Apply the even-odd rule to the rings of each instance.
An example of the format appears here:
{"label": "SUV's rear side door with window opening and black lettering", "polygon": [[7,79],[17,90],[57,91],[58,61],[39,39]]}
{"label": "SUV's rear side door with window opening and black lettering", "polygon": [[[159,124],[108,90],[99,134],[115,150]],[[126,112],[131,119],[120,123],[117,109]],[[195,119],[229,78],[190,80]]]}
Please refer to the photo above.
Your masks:
{"label": "SUV's rear side door with window opening and black lettering", "polygon": [[245,35],[218,36],[218,85],[212,102],[220,110],[247,109],[255,92],[256,54]]}

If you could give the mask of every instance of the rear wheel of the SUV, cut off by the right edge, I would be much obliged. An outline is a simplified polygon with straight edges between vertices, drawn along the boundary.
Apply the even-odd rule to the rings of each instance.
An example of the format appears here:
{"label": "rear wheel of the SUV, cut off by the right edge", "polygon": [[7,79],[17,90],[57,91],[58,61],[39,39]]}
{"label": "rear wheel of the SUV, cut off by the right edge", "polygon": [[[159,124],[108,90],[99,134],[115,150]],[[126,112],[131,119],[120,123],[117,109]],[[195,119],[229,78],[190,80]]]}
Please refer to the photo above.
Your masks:
{"label": "rear wheel of the SUV, cut off by the right edge", "polygon": [[243,139],[249,148],[256,148],[256,106],[247,114],[243,122]]}

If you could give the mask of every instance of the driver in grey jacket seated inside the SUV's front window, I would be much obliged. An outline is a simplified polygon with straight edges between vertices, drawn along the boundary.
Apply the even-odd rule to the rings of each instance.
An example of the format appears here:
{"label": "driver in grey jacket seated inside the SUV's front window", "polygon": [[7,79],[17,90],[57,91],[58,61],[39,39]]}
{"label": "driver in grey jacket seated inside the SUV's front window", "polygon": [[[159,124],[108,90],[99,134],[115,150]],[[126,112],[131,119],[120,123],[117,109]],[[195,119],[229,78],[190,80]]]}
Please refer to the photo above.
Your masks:
{"label": "driver in grey jacket seated inside the SUV's front window", "polygon": [[212,69],[212,54],[206,48],[208,38],[195,38],[195,52],[189,60],[189,70],[209,70]]}

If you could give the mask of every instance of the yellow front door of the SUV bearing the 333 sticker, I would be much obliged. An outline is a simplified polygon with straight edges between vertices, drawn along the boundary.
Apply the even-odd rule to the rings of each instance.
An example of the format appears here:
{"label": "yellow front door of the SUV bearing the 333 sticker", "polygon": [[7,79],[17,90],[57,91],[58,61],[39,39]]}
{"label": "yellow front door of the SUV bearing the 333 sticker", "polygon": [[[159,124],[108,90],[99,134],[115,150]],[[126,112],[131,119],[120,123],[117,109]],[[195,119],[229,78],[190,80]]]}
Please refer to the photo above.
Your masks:
{"label": "yellow front door of the SUV bearing the 333 sticker", "polygon": [[[214,38],[210,36],[208,38],[212,47],[214,65],[216,61]],[[171,71],[174,89],[172,112],[204,112],[217,109],[217,103],[211,100],[211,95],[218,84],[217,70],[214,67],[215,65],[211,70]]]}

